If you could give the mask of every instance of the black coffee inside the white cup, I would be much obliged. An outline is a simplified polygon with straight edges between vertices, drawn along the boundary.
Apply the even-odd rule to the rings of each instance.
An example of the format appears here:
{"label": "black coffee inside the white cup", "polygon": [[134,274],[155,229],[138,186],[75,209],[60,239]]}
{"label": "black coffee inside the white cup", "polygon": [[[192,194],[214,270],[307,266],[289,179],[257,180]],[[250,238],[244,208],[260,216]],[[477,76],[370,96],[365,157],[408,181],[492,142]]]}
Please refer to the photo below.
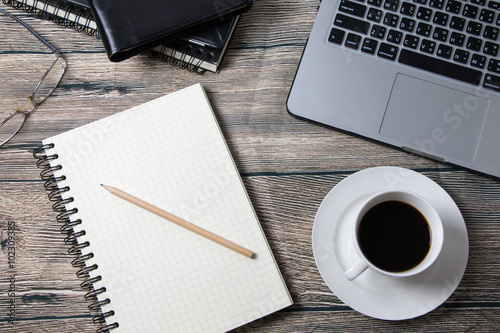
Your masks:
{"label": "black coffee inside the white cup", "polygon": [[365,257],[389,272],[404,272],[417,266],[431,244],[431,231],[425,217],[401,201],[385,201],[370,208],[357,232]]}

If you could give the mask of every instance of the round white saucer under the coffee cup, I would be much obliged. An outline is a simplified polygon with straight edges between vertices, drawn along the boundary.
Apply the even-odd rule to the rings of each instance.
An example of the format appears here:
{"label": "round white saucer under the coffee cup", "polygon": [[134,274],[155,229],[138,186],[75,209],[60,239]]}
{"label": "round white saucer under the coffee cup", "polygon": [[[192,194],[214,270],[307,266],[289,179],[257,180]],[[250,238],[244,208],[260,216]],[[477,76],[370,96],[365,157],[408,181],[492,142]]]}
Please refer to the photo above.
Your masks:
{"label": "round white saucer under the coffee cup", "polygon": [[[395,278],[368,269],[353,281],[344,271],[357,261],[352,224],[360,199],[389,189],[407,189],[427,198],[444,227],[436,262],[412,277]],[[469,241],[465,222],[448,193],[426,176],[398,167],[359,171],[339,182],[321,203],[312,244],[316,265],[330,289],[345,304],[367,316],[403,320],[434,310],[455,291],[467,266]]]}

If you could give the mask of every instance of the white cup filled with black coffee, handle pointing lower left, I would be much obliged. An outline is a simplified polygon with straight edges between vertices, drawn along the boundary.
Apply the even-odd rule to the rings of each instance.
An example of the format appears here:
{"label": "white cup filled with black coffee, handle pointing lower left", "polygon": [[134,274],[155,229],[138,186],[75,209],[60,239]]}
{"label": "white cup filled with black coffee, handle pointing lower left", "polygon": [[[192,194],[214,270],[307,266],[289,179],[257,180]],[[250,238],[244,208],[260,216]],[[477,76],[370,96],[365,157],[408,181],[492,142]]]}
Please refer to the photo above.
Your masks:
{"label": "white cup filled with black coffee, handle pointing lower left", "polygon": [[[389,202],[389,203],[388,203]],[[397,202],[394,204],[394,202]],[[388,263],[391,262],[391,258],[393,257],[393,252],[391,252],[390,255],[385,256],[385,253],[382,249],[385,247],[383,244],[390,244],[387,242],[383,242],[385,236],[378,237],[376,232],[373,233],[365,233],[364,235],[360,236],[359,231],[360,227],[365,228],[365,224],[370,223],[368,221],[368,214],[374,214],[377,210],[380,211],[381,214],[387,213],[387,221],[390,220],[390,216],[392,216],[392,220],[394,220],[394,224],[392,224],[392,228],[387,227],[387,230],[390,232],[386,232],[384,234],[393,234],[396,235],[394,236],[394,241],[393,243],[398,243],[400,241],[400,238],[403,239],[402,237],[398,237],[399,231],[396,233],[392,233],[392,230],[400,230],[400,226],[403,227],[403,225],[400,225],[399,223],[410,223],[408,221],[412,221],[411,219],[407,218],[406,216],[401,216],[401,219],[395,218],[395,216],[399,216],[396,214],[394,211],[390,210],[385,210],[384,207],[400,207],[400,203],[408,204],[415,208],[418,212],[420,212],[421,216],[425,218],[424,221],[427,221],[428,225],[428,230],[429,230],[429,247],[427,250],[427,253],[423,253],[423,258],[414,266],[404,269],[404,270],[388,270],[385,268],[382,268],[383,265],[380,265],[380,263],[375,263],[371,261],[368,257],[372,257],[373,260],[373,255],[370,253],[364,253],[362,250],[362,247],[365,248],[365,251],[367,250],[366,244],[369,244],[370,242],[374,243],[375,245],[372,247],[375,249],[372,252],[378,252],[378,258],[382,258],[383,261],[387,261]],[[392,206],[391,206],[392,204]],[[394,206],[396,205],[396,206]],[[399,205],[399,206],[398,206]],[[405,206],[405,209],[408,207]],[[411,208],[409,209],[411,210]],[[398,210],[399,212],[399,210]],[[365,216],[366,215],[366,216]],[[373,215],[371,215],[373,216]],[[385,215],[382,215],[385,216]],[[416,218],[418,220],[418,218]],[[378,219],[381,221],[384,221],[384,219]],[[375,221],[375,219],[373,219]],[[400,222],[399,222],[400,221]],[[420,220],[419,220],[420,221]],[[437,259],[439,256],[439,253],[441,252],[441,248],[443,247],[443,224],[441,221],[441,218],[434,208],[434,206],[424,197],[421,195],[412,192],[412,191],[407,191],[407,190],[389,190],[389,191],[384,191],[384,192],[379,192],[370,198],[368,198],[359,208],[358,213],[356,214],[356,219],[351,222],[353,224],[352,227],[352,239],[350,241],[353,242],[354,248],[356,249],[356,253],[359,256],[359,260],[355,262],[349,269],[347,269],[344,274],[345,277],[349,280],[352,281],[355,278],[357,278],[361,273],[363,273],[367,269],[372,269],[374,271],[377,271],[379,273],[385,274],[387,276],[392,276],[392,277],[407,277],[407,276],[412,276],[419,274],[429,268]],[[380,222],[382,223],[382,222]],[[385,221],[384,221],[385,223]],[[387,222],[388,223],[388,222]],[[375,225],[372,223],[372,225]],[[386,224],[387,225],[387,224]],[[422,226],[420,230],[422,230]],[[382,233],[382,232],[381,232]],[[372,235],[373,234],[373,235]],[[401,233],[403,235],[404,233]],[[408,234],[408,232],[406,232]],[[420,232],[422,234],[422,232]],[[406,245],[411,244],[413,242],[412,236],[410,234],[407,235],[410,239],[412,239],[411,242],[404,243]],[[378,238],[375,238],[378,237]],[[372,238],[372,239],[370,239]],[[390,237],[387,237],[390,239]],[[415,237],[415,239],[418,240],[418,238],[422,237]],[[364,244],[360,244],[360,239],[362,239],[362,242]],[[423,242],[423,241],[422,241]],[[420,243],[422,243],[420,242]],[[378,246],[380,244],[382,246]],[[405,246],[406,246],[405,245]],[[369,248],[369,247],[368,247]],[[378,249],[380,251],[378,251]],[[411,251],[410,251],[411,252]],[[389,252],[387,252],[389,253]],[[385,258],[385,257],[386,258]],[[394,256],[396,256],[396,253],[394,253]],[[387,260],[386,260],[387,259]],[[379,260],[380,261],[380,260]],[[404,259],[401,259],[401,261],[404,261]],[[411,261],[410,261],[411,262]]]}

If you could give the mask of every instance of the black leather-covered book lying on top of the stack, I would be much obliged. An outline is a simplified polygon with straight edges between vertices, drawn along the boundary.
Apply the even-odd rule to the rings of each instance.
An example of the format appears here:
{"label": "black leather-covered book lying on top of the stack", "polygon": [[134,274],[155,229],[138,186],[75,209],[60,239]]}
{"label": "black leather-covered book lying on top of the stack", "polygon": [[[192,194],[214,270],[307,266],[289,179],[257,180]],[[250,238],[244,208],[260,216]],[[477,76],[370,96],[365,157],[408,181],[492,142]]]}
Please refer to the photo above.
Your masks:
{"label": "black leather-covered book lying on top of the stack", "polygon": [[160,44],[250,9],[252,0],[88,0],[111,61],[128,59]]}

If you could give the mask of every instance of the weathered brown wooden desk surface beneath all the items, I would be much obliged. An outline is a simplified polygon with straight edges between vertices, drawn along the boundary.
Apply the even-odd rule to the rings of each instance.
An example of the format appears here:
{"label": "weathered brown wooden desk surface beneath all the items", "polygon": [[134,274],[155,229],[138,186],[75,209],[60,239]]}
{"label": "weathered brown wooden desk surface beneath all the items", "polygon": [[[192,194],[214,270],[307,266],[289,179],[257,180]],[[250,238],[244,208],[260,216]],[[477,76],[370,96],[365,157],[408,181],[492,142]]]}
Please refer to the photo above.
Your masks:
{"label": "weathered brown wooden desk surface beneath all the items", "polygon": [[[15,267],[0,252],[0,331],[95,332],[72,256],[55,220],[32,151],[46,137],[201,82],[222,126],[295,305],[241,332],[500,330],[500,183],[287,114],[285,101],[319,0],[255,0],[242,17],[218,74],[203,76],[138,56],[107,60],[101,42],[19,14],[58,47],[68,71],[55,95],[0,149],[0,229],[15,223]],[[18,38],[5,34],[2,39]],[[3,42],[3,41],[2,41]],[[27,55],[22,55],[28,57]],[[0,70],[11,57],[0,55]],[[335,77],[332,77],[335,79]],[[23,85],[22,78],[0,85]],[[3,89],[3,88],[0,88]],[[0,99],[2,110],[12,101]],[[388,322],[353,311],[327,287],[311,247],[314,216],[340,180],[373,166],[406,167],[429,176],[458,204],[470,255],[455,293],[431,313]],[[133,246],[133,244],[131,244]],[[8,323],[15,272],[15,323]]]}

